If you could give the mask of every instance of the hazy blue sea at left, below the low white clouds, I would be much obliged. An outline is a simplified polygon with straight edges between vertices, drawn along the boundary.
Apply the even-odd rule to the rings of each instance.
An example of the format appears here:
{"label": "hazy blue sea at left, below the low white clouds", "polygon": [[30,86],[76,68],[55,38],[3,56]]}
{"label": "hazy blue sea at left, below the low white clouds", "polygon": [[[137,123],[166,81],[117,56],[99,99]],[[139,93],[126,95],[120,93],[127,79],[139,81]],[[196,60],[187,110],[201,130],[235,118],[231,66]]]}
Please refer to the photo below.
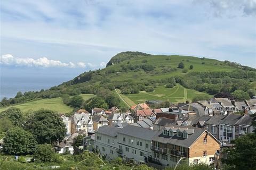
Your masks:
{"label": "hazy blue sea at left, below the low white clouds", "polygon": [[74,79],[83,70],[1,68],[0,99],[13,98],[18,91],[39,91]]}

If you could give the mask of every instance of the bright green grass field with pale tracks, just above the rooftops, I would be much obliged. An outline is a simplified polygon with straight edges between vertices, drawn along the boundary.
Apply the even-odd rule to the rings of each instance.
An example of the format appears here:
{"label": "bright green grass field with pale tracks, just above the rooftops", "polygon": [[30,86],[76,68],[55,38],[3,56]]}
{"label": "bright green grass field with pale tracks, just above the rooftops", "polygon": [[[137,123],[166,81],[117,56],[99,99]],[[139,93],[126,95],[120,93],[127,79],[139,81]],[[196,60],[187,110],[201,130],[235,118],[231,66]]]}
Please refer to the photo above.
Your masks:
{"label": "bright green grass field with pale tracks, just above the rooftops", "polygon": [[[118,91],[120,92],[120,91]],[[180,85],[173,88],[165,88],[164,86],[158,86],[153,92],[141,91],[139,94],[121,95],[122,98],[129,105],[143,103],[145,100],[168,100],[174,103],[183,102],[186,100],[191,101],[195,96],[208,95],[196,90],[186,89]],[[208,95],[212,97],[211,95]]]}

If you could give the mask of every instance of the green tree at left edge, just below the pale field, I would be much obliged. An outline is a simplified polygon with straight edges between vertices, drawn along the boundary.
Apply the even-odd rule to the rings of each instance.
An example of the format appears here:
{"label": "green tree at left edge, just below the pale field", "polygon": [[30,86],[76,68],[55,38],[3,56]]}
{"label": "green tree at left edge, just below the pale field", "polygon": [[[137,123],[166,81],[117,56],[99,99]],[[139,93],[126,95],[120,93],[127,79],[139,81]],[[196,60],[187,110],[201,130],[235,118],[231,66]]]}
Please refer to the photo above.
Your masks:
{"label": "green tree at left edge, just below the pale field", "polygon": [[0,113],[0,118],[9,118],[14,125],[18,125],[22,118],[22,112],[19,108],[10,107],[9,109]]}

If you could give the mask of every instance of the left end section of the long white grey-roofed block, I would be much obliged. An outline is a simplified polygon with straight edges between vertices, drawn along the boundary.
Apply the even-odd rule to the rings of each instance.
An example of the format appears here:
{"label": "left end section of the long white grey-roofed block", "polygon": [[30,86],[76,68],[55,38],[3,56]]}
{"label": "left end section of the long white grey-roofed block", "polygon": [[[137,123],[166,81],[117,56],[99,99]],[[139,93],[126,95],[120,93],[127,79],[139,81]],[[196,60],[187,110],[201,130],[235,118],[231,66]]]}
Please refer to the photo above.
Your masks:
{"label": "left end section of the long white grey-roofed block", "polygon": [[120,130],[115,126],[104,125],[95,131],[94,149],[108,160],[118,157],[117,132]]}

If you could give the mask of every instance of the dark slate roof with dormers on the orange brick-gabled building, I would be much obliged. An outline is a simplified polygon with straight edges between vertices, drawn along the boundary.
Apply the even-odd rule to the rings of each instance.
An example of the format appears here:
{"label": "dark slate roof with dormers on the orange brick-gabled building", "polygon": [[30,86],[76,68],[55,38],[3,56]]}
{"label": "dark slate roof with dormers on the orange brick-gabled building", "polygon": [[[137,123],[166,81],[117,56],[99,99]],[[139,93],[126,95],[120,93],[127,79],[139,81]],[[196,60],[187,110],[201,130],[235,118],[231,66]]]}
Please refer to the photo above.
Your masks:
{"label": "dark slate roof with dormers on the orange brick-gabled building", "polygon": [[159,131],[152,139],[153,141],[157,141],[161,143],[170,143],[173,145],[179,145],[182,147],[189,148],[194,143],[194,141],[206,131],[205,129],[194,128],[192,126],[177,126],[177,125],[166,125],[166,126],[174,126],[174,128],[181,128],[181,129],[183,128],[194,129],[194,133],[188,134],[188,138],[181,138],[181,137],[177,137],[177,133],[174,133],[175,135],[173,137],[170,137],[169,135],[164,135],[163,131]]}

